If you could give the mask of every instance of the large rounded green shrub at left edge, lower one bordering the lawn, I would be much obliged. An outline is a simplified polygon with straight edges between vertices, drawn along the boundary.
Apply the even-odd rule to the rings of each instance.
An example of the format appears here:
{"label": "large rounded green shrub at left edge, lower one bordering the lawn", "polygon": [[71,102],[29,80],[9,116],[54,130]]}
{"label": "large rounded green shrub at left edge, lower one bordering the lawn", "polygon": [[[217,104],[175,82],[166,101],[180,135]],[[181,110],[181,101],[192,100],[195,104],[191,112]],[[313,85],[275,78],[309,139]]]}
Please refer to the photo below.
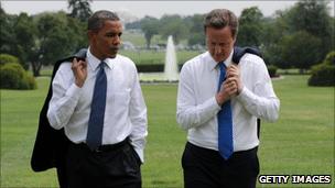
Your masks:
{"label": "large rounded green shrub at left edge, lower one bordering the lawn", "polygon": [[8,63],[0,67],[1,89],[36,89],[36,81],[18,63]]}

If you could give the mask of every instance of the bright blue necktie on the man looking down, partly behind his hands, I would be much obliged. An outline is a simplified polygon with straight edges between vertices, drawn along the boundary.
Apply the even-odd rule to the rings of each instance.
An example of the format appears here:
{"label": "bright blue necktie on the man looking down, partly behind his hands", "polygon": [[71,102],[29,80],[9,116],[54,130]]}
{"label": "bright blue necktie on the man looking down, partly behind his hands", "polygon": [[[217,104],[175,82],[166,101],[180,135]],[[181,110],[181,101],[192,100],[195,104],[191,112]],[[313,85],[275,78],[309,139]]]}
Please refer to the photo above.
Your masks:
{"label": "bright blue necktie on the man looking down, partly behind his hands", "polygon": [[[226,77],[226,66],[219,63],[220,76],[218,81],[218,91]],[[233,120],[230,100],[221,106],[221,110],[217,113],[218,121],[218,151],[220,155],[228,159],[233,154]]]}

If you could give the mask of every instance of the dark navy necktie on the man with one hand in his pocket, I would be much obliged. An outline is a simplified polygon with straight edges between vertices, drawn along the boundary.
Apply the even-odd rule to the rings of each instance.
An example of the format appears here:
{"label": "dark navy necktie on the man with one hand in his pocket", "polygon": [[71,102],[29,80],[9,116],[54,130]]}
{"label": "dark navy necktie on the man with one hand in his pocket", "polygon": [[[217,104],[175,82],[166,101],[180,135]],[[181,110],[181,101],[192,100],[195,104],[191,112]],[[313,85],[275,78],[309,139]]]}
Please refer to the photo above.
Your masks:
{"label": "dark navy necktie on the man with one hand in his pocket", "polygon": [[96,82],[90,104],[86,144],[93,151],[101,145],[102,140],[107,90],[107,78],[104,69],[105,66],[105,62],[101,62],[99,65],[99,71],[96,76]]}

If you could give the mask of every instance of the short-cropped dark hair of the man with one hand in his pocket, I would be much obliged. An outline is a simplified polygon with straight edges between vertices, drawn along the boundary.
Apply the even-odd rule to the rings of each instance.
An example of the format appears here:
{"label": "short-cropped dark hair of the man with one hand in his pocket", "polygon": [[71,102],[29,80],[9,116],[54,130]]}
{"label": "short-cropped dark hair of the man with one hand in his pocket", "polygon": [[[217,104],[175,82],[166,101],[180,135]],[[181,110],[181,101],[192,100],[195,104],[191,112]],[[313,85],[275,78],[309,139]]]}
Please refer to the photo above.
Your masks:
{"label": "short-cropped dark hair of the man with one hand in his pocket", "polygon": [[100,10],[88,18],[87,30],[99,31],[104,26],[106,20],[119,21],[120,19],[114,12]]}

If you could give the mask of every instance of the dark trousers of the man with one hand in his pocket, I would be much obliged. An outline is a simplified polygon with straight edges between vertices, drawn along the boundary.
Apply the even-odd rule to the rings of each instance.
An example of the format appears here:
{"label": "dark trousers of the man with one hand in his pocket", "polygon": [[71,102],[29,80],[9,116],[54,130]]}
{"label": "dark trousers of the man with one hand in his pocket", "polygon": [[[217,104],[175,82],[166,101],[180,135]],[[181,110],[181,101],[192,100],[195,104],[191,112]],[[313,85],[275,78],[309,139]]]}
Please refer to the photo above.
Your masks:
{"label": "dark trousers of the man with one hand in his pocket", "polygon": [[127,141],[107,151],[90,151],[85,144],[71,144],[67,152],[69,188],[141,188],[141,162]]}

